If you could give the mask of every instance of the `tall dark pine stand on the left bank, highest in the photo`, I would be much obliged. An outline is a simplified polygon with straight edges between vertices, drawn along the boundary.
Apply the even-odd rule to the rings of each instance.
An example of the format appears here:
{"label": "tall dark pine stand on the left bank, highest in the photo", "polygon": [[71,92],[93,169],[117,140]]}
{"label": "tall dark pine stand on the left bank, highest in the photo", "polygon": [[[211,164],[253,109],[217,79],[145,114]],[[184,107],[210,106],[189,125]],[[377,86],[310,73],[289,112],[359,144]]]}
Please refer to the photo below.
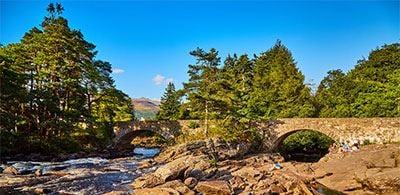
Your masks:
{"label": "tall dark pine stand on the left bank, highest in the photo", "polygon": [[0,48],[3,154],[106,144],[116,122],[133,119],[129,98],[115,88],[111,64],[95,59],[95,46],[70,29],[60,4],[47,10],[41,28]]}

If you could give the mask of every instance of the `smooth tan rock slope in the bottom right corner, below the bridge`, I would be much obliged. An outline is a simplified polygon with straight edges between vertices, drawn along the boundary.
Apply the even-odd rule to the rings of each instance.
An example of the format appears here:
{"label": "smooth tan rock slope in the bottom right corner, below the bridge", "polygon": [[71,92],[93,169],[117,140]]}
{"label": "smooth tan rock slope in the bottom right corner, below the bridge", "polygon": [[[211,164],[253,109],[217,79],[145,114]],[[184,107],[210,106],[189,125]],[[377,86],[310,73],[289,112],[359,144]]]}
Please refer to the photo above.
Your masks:
{"label": "smooth tan rock slope in the bottom right corner, below the bridge", "polygon": [[[301,168],[300,168],[301,167]],[[301,165],[325,186],[347,194],[400,192],[400,144],[362,146],[355,152],[331,152],[317,163]]]}

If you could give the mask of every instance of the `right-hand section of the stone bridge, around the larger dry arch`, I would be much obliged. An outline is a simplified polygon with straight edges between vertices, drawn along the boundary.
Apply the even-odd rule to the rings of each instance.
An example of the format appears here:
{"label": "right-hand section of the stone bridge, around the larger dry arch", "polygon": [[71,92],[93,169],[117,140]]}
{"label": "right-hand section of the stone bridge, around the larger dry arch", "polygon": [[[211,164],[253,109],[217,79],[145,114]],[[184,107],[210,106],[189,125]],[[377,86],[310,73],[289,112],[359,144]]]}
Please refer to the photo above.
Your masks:
{"label": "right-hand section of the stone bridge, around the larger dry arch", "polygon": [[274,150],[290,134],[304,129],[319,131],[340,142],[400,141],[400,118],[284,118],[272,122],[276,123],[272,128],[275,135],[272,135],[265,143],[271,150]]}

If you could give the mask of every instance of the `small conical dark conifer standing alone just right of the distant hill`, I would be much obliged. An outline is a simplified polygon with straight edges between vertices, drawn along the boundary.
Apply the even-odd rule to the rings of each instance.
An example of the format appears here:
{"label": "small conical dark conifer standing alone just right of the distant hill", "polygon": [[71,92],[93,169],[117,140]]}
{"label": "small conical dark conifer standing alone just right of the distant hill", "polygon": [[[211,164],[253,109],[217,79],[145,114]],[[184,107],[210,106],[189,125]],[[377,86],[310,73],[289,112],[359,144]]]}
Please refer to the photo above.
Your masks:
{"label": "small conical dark conifer standing alone just right of the distant hill", "polygon": [[157,113],[157,120],[177,120],[180,115],[180,101],[175,85],[168,83],[165,93],[161,98],[160,110]]}

